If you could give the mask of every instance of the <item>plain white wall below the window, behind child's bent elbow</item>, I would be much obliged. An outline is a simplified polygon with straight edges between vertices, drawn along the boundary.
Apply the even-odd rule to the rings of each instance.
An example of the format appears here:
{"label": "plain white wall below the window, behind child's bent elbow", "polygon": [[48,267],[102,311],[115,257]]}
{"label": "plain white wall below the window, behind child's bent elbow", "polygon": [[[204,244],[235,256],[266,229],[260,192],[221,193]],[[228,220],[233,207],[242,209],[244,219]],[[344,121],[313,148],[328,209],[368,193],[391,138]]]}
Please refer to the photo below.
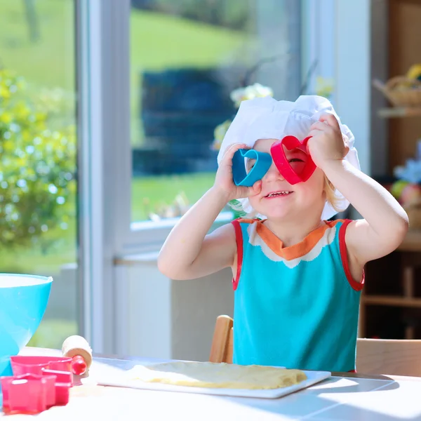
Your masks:
{"label": "plain white wall below the window, behind child's bent elbow", "polygon": [[155,257],[120,261],[116,268],[116,300],[126,308],[119,314],[117,353],[208,361],[216,317],[233,314],[231,269],[173,281],[159,272]]}

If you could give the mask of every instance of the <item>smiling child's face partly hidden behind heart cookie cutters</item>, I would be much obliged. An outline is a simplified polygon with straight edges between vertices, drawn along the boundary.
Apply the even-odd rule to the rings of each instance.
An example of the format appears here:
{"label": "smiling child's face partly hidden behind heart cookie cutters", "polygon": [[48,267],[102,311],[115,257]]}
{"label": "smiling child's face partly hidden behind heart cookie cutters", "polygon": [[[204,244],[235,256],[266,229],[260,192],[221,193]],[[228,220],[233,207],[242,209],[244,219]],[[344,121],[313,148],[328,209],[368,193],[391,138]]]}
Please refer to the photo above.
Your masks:
{"label": "smiling child's face partly hidden behind heart cookie cutters", "polygon": [[[255,142],[253,149],[270,154],[270,147],[276,142],[275,139],[260,139]],[[295,172],[299,173],[307,161],[307,154],[295,149],[285,149],[286,158]],[[254,161],[247,163],[248,170]],[[262,190],[260,194],[248,198],[250,205],[258,213],[271,219],[288,219],[302,217],[308,213],[322,212],[326,203],[326,194],[323,191],[324,173],[316,168],[313,175],[306,182],[290,185],[278,168],[272,163],[269,171],[262,178]]]}

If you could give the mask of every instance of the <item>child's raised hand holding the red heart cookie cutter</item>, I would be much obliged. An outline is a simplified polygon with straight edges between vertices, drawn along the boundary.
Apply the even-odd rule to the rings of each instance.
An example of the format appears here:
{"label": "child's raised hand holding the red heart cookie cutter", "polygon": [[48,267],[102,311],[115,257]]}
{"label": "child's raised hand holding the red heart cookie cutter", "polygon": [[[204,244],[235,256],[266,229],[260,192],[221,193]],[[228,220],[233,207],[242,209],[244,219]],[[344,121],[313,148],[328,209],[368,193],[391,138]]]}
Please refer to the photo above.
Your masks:
{"label": "child's raised hand holding the red heart cookie cutter", "polygon": [[312,160],[323,170],[331,161],[342,161],[349,152],[346,136],[342,136],[338,120],[333,114],[325,114],[310,128],[308,142]]}

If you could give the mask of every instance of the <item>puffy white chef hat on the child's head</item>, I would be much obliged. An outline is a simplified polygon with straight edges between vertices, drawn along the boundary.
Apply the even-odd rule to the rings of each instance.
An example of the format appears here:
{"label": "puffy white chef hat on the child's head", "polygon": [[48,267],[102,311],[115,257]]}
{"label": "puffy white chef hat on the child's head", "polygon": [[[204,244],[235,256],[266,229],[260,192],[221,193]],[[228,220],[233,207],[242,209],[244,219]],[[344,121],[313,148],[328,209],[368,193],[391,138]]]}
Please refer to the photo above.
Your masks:
{"label": "puffy white chef hat on the child's head", "polygon": [[[227,148],[235,143],[253,147],[258,139],[282,139],[286,135],[304,139],[309,133],[310,126],[319,121],[323,114],[333,114],[338,119],[342,135],[346,135],[349,140],[349,152],[345,159],[360,169],[358,154],[354,147],[354,135],[340,122],[330,101],[317,95],[302,95],[295,102],[276,101],[269,96],[241,102],[239,111],[222,140],[218,165]],[[345,210],[349,206],[349,201],[338,190],[335,191],[335,195],[338,197],[338,208]],[[253,211],[247,198],[238,200],[244,212]],[[333,206],[326,201],[321,218],[328,220],[336,213]],[[265,215],[260,217],[265,218]]]}

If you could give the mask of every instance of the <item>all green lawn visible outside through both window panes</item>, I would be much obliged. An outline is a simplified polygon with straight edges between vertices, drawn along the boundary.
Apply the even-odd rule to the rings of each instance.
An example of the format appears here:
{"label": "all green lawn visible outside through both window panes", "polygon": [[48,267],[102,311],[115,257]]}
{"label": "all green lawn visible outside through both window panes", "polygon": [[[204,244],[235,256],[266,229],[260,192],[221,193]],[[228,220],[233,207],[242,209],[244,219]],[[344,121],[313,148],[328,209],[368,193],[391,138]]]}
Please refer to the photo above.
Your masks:
{"label": "all green lawn visible outside through both window panes", "polygon": [[[76,51],[74,44],[74,1],[34,1],[39,19],[40,39],[29,39],[24,2],[0,1],[0,66],[24,76],[32,95],[44,88],[61,88],[74,95],[76,86]],[[213,27],[202,22],[133,10],[131,13],[131,124],[132,141],[142,143],[140,121],[140,83],[145,71],[180,67],[219,67],[248,60],[245,51],[253,42],[243,32]],[[67,110],[63,121],[74,121],[76,105]],[[138,178],[132,183],[134,220],[147,218],[149,207],[170,204],[184,192],[194,203],[213,183],[211,173]],[[74,204],[74,208],[76,204]],[[60,266],[77,258],[76,221],[66,231],[52,230],[47,237],[59,241],[51,247],[34,244],[29,248],[1,251],[0,272],[24,272],[50,275]],[[59,316],[58,316],[59,317]],[[31,344],[57,346],[61,338],[74,333],[70,321],[41,323]],[[54,339],[55,338],[55,339]],[[51,342],[53,341],[53,342]],[[59,344],[60,345],[60,344]]]}

